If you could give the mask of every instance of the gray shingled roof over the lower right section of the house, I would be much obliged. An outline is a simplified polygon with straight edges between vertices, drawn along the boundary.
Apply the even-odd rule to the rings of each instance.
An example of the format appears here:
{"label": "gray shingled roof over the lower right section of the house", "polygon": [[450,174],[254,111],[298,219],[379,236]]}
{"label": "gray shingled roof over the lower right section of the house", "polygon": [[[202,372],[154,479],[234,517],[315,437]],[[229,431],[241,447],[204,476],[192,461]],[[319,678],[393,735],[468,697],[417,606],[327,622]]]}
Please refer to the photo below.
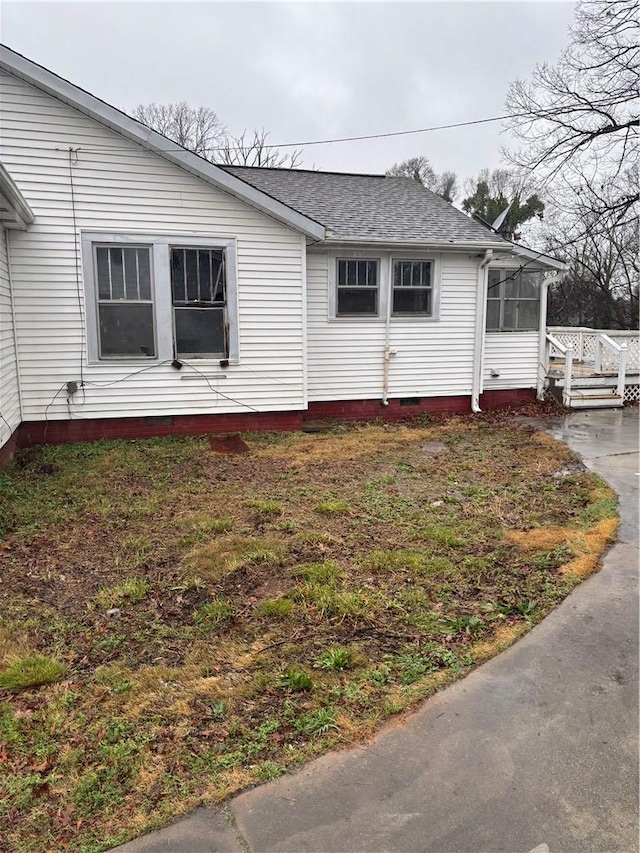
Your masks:
{"label": "gray shingled roof over the lower right section of the house", "polygon": [[327,240],[506,242],[411,178],[249,166],[222,168],[320,222],[327,229]]}

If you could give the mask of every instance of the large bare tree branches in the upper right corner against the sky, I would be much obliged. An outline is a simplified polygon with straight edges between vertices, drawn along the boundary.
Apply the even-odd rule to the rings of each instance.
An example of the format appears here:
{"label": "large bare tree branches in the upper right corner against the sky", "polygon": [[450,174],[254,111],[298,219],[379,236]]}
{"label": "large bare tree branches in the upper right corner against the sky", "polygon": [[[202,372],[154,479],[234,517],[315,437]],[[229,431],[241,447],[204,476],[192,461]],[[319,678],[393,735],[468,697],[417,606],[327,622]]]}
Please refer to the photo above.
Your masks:
{"label": "large bare tree branches in the upper right corner against the sky", "polygon": [[637,155],[640,28],[636,0],[584,0],[572,41],[554,65],[536,66],[530,81],[511,85],[511,130],[524,143],[508,154],[547,181],[564,174],[574,186],[614,183],[594,203],[625,217],[638,201],[618,181]]}

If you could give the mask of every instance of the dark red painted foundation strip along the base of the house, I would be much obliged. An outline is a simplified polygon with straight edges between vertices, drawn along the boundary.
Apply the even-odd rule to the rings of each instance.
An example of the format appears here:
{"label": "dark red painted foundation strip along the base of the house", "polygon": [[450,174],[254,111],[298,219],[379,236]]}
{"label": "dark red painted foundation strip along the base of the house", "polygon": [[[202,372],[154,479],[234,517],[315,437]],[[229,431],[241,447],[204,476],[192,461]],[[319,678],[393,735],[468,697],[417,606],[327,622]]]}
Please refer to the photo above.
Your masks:
{"label": "dark red painted foundation strip along the base of the house", "polygon": [[[480,398],[483,409],[507,408],[535,400],[528,388],[487,391]],[[401,420],[429,412],[467,414],[471,398],[422,397],[389,400],[330,400],[313,402],[306,411],[242,412],[234,415],[167,415],[146,418],[95,418],[93,420],[24,422],[0,449],[0,469],[11,459],[16,447],[36,444],[65,444],[100,439],[157,438],[164,435],[206,435],[208,433],[281,431],[300,429],[306,420],[336,419],[366,421],[374,418]]]}

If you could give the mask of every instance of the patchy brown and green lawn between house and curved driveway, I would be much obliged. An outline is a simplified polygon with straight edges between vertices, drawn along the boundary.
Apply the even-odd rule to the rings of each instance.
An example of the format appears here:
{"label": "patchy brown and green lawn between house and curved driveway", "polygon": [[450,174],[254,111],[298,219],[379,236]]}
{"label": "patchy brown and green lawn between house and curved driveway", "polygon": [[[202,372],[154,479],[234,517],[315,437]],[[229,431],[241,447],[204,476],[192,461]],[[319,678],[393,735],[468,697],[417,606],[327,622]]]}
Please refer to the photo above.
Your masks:
{"label": "patchy brown and green lawn between house and curved driveway", "polygon": [[0,848],[97,853],[370,737],[615,536],[606,485],[506,421],[246,442],[43,447],[0,475]]}

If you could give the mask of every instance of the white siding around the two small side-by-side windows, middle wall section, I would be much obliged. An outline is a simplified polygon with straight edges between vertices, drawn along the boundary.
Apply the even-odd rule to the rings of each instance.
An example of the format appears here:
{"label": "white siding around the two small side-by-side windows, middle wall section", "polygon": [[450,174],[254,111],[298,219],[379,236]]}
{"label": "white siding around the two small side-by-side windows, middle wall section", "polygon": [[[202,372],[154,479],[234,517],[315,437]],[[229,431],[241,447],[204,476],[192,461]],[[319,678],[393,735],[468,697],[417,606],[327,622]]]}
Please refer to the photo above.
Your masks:
{"label": "white siding around the two small side-by-side windows, middle wall section", "polygon": [[[379,254],[383,266],[399,257]],[[420,254],[415,257],[419,260]],[[332,263],[326,250],[310,251],[307,257],[309,399],[381,398],[384,316],[330,319]],[[391,318],[389,346],[396,354],[389,367],[390,398],[471,394],[477,274],[473,255],[443,255],[434,303],[438,317]]]}

